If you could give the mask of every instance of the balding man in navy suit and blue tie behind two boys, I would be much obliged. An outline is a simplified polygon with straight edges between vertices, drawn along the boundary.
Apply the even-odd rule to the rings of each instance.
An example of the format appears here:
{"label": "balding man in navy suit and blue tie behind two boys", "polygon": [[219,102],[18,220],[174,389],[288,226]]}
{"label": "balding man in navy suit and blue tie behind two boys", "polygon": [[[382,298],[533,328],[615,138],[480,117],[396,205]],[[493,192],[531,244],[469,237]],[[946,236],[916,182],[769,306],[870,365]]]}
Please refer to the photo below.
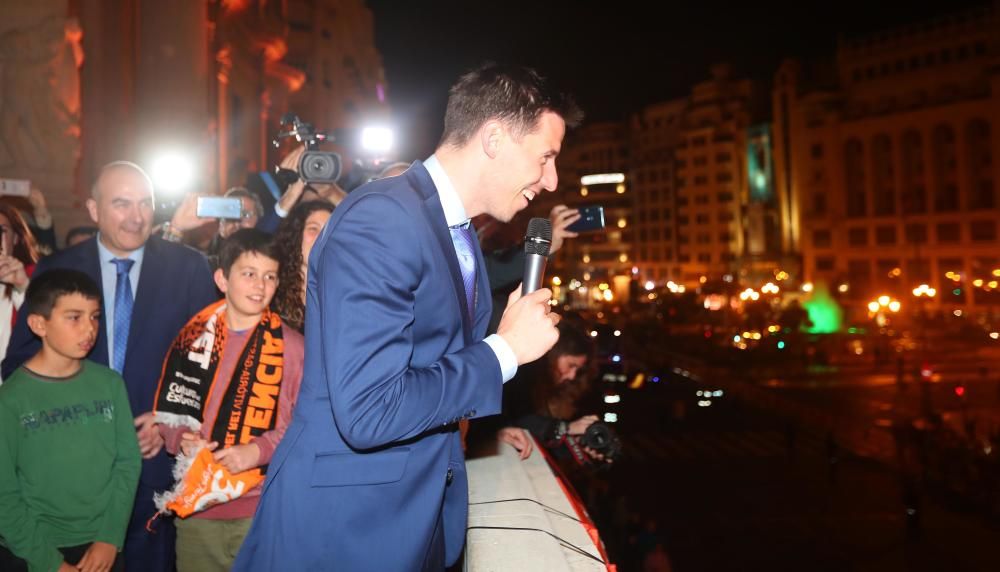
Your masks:
{"label": "balding man in navy suit and blue tie behind two boys", "polygon": [[[125,378],[143,454],[142,473],[132,520],[125,537],[127,570],[172,572],[173,523],[161,520],[155,532],[146,521],[156,514],[153,493],[172,483],[173,461],[153,421],[153,397],[163,358],[177,332],[217,299],[212,275],[200,253],[150,237],[153,185],[137,165],[120,161],[105,166],[87,201],[99,234],[38,263],[35,273],[72,268],[101,285],[102,319],[97,343],[88,356]],[[3,372],[9,374],[38,348],[22,313],[11,335]]]}

